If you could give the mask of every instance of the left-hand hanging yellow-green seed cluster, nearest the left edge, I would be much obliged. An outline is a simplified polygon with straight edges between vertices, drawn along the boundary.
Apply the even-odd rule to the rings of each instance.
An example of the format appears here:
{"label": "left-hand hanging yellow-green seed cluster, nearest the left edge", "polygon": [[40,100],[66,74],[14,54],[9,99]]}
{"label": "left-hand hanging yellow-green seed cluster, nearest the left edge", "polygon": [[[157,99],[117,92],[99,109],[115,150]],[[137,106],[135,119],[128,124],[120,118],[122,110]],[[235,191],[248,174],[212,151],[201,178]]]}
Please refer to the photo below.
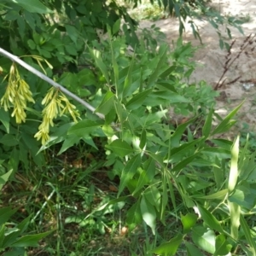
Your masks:
{"label": "left-hand hanging yellow-green seed cluster, nearest the left edge", "polygon": [[[5,77],[6,79],[7,77]],[[26,104],[27,102],[33,102],[32,92],[29,85],[23,79],[20,79],[20,74],[13,64],[9,72],[9,81],[5,93],[0,101],[5,111],[9,108],[14,108],[12,117],[15,116],[16,123],[26,121]]]}

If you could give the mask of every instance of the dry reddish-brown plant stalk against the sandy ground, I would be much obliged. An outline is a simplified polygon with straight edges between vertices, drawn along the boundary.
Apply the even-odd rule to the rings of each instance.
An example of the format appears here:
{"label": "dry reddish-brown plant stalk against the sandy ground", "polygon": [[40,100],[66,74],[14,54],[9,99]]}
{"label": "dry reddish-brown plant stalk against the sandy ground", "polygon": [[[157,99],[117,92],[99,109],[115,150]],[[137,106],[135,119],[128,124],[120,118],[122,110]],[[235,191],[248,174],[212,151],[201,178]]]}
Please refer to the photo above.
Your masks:
{"label": "dry reddish-brown plant stalk against the sandy ground", "polygon": [[[225,82],[225,79],[223,80],[224,75],[229,71],[230,67],[234,65],[236,61],[238,61],[239,63],[239,58],[241,54],[245,54],[247,55],[247,57],[250,57],[250,54],[252,54],[252,52],[255,49],[255,45],[253,45],[254,43],[256,43],[255,37],[256,35],[252,35],[252,34],[248,35],[241,43],[239,51],[237,53],[231,52],[231,49],[236,44],[236,39],[230,44],[230,49],[228,50],[227,55],[225,55],[224,71],[220,79],[218,80],[218,83],[215,85],[214,90],[218,90],[224,85],[224,82]],[[236,68],[237,66],[238,64],[236,64]],[[232,81],[226,84],[234,84],[239,79],[241,79],[241,76],[236,77],[235,79],[233,79]]]}

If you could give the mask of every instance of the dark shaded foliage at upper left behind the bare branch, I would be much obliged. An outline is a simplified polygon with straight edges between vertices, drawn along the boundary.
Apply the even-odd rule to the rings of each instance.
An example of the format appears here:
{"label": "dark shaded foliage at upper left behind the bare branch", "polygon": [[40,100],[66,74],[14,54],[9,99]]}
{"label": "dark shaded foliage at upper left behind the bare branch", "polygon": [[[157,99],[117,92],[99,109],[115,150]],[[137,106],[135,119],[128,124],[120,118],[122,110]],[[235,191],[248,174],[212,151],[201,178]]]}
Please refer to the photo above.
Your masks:
{"label": "dark shaded foliage at upper left behind the bare branch", "polygon": [[[26,4],[23,1],[4,1],[1,10],[3,15],[0,17],[2,24],[0,39],[3,49],[23,56],[22,59],[26,63],[39,70],[43,69],[49,77],[54,76],[58,82],[80,97],[95,97],[96,93],[100,93],[98,89],[103,84],[100,80],[105,79],[101,78],[99,73],[95,73],[91,63],[93,58],[87,50],[89,49],[87,45],[96,47],[97,52],[102,48],[109,50],[109,45],[104,45],[104,40],[101,44],[94,41],[99,39],[97,30],[107,32],[107,26],[109,26],[113,34],[116,34],[119,32],[120,18],[125,17],[123,49],[126,48],[127,43],[131,45],[138,43],[134,32],[134,21],[131,20],[126,10],[119,8],[115,2],[106,4],[104,1],[98,1],[98,3],[94,1],[92,5],[88,1],[43,1],[42,3],[37,1],[35,4]],[[158,32],[157,29],[155,31]],[[146,32],[148,33],[148,30],[144,30],[143,33]],[[148,34],[145,34],[145,37],[147,36]],[[151,41],[148,38],[147,40],[146,48],[152,43],[156,44],[155,39]],[[86,48],[85,51],[84,48]],[[79,68],[80,63],[85,68]],[[1,57],[0,66],[3,68],[3,74],[9,73],[10,61]],[[26,169],[29,167],[30,160],[38,166],[44,166],[44,155],[37,154],[40,143],[32,137],[38,130],[38,118],[42,118],[40,102],[49,90],[48,84],[36,79],[32,73],[23,69],[19,69],[18,73],[22,81],[26,78],[37,103],[35,106],[32,102],[28,103],[26,109],[23,108],[26,125],[19,128],[16,127],[14,119],[10,119],[9,114],[3,108],[0,109],[0,119],[3,124],[1,125],[3,129],[0,131],[0,143],[3,145],[0,148],[1,155],[5,160],[4,165],[14,171],[17,170],[20,161]],[[0,89],[1,95],[4,94],[7,84],[7,79],[4,79]],[[58,125],[52,131],[59,131],[62,125],[67,123],[67,119],[67,117],[61,119],[60,122],[57,120]],[[67,132],[67,130],[64,131],[64,127],[66,126],[63,126],[61,131]],[[8,134],[5,134],[6,131]],[[40,137],[48,138],[38,135],[38,138]],[[59,138],[56,140],[60,142]],[[91,143],[90,138],[84,138],[84,140],[86,143]]]}

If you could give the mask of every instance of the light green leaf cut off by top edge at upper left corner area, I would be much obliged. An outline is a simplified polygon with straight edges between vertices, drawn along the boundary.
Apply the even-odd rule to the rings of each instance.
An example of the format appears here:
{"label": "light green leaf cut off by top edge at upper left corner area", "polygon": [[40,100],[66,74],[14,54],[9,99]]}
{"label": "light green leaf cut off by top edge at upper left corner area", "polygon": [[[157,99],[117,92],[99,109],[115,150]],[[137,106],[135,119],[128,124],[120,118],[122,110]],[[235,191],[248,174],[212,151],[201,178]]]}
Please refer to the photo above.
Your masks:
{"label": "light green leaf cut off by top edge at upper left corner area", "polygon": [[11,0],[13,3],[20,5],[30,13],[37,13],[40,15],[52,14],[53,11],[48,9],[43,3],[38,0]]}

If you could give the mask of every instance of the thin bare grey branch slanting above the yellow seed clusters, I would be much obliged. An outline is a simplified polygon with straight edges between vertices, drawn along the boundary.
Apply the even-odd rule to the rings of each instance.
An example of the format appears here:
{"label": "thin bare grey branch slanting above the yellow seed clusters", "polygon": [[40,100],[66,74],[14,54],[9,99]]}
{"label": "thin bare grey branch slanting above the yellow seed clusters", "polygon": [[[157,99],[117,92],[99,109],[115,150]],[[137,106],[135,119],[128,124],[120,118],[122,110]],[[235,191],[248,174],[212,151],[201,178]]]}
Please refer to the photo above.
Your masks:
{"label": "thin bare grey branch slanting above the yellow seed clusters", "polygon": [[[9,58],[11,61],[17,62],[18,64],[20,64],[20,66],[26,68],[29,72],[38,76],[38,78],[43,79],[47,83],[54,86],[56,89],[61,90],[61,92],[65,93],[67,96],[70,96],[71,98],[73,98],[73,100],[81,103],[85,108],[88,108],[91,112],[95,112],[96,108],[92,107],[88,102],[84,102],[84,100],[79,98],[79,96],[76,96],[71,91],[69,91],[65,87],[63,87],[61,84],[56,83],[52,79],[49,79],[49,77],[44,75],[44,73],[41,73],[37,69],[35,69],[34,67],[31,67],[30,65],[26,64],[25,61],[21,61],[19,57],[10,54],[8,51],[6,51],[2,48],[0,48],[0,55],[3,55],[5,57]],[[100,117],[101,119],[105,119],[105,116],[102,113],[96,113],[96,115],[98,117]]]}

